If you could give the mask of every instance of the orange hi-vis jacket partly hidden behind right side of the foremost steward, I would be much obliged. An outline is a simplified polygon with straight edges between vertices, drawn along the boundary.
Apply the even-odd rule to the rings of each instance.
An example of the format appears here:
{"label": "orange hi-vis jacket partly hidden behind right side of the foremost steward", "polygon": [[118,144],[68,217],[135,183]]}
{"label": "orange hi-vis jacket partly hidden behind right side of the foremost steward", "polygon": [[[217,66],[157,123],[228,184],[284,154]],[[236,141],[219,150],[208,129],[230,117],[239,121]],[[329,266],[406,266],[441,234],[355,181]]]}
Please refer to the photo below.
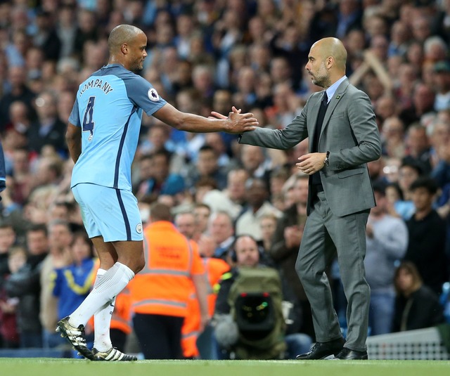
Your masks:
{"label": "orange hi-vis jacket partly hidden behind right side of the foremost steward", "polygon": [[[193,246],[197,246],[191,240]],[[216,304],[217,294],[214,293],[213,286],[219,282],[222,274],[230,270],[229,264],[222,259],[210,257],[202,258],[203,266],[208,279],[208,313],[210,317],[214,315],[214,306]],[[195,289],[191,292],[188,300],[188,316],[184,319],[183,328],[181,328],[181,349],[186,358],[195,358],[200,355],[197,348],[197,338],[200,335],[200,306],[198,305]]]}

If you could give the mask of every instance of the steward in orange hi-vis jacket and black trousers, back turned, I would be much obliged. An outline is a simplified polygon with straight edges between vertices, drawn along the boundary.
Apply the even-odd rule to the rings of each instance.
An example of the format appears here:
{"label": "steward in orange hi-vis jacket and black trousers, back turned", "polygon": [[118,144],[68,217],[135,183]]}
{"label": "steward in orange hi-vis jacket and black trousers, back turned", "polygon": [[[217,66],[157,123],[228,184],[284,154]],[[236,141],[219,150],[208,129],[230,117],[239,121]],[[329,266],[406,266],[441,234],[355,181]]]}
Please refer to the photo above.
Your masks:
{"label": "steward in orange hi-vis jacket and black trousers, back turned", "polygon": [[134,330],[146,359],[181,358],[181,326],[194,285],[207,316],[205,268],[169,213],[161,203],[150,208],[143,233],[146,266],[129,284]]}

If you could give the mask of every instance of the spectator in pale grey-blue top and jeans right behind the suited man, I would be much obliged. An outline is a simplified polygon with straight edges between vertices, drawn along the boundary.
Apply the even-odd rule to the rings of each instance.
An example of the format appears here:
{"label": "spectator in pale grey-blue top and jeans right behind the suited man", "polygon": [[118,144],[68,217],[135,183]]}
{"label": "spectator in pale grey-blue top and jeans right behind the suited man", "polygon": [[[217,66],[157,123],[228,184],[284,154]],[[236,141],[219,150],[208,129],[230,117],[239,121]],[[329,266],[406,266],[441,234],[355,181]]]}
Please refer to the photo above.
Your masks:
{"label": "spectator in pale grey-blue top and jeans right behind the suited man", "polygon": [[371,209],[366,226],[366,279],[371,287],[369,327],[371,335],[391,331],[394,317],[394,271],[408,245],[408,229],[403,221],[387,213],[383,183],[373,185],[377,206]]}

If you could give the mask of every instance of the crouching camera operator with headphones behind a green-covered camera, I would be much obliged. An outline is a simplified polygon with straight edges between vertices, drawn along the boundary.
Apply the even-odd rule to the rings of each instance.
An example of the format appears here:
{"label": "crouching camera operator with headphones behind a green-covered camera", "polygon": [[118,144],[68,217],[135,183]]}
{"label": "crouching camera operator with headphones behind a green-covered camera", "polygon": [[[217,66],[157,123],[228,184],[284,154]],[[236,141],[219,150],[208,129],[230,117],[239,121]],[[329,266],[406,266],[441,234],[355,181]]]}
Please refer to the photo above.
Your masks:
{"label": "crouching camera operator with headphones behind a green-covered camera", "polygon": [[231,259],[236,267],[219,282],[214,336],[219,358],[295,358],[309,349],[311,338],[286,335],[283,291],[278,271],[259,264],[257,242],[250,235],[236,239]]}

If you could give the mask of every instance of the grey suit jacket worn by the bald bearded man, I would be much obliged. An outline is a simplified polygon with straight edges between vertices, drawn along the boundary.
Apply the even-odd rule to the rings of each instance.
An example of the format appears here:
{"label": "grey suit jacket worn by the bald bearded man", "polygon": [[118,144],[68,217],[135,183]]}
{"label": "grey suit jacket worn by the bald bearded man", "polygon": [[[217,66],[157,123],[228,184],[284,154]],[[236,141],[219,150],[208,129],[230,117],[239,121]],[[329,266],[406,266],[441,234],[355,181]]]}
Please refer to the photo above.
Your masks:
{"label": "grey suit jacket worn by the bald bearded man", "polygon": [[[242,134],[239,142],[282,150],[293,148],[309,135],[314,136],[322,97],[323,91],[313,93],[300,115],[285,129],[257,128]],[[310,153],[311,147],[310,142]],[[349,84],[348,79],[339,85],[328,103],[318,151],[330,152],[330,164],[320,174],[333,214],[345,216],[375,206],[367,162],[378,160],[381,155],[380,134],[370,99]],[[308,214],[311,200],[310,186]]]}

